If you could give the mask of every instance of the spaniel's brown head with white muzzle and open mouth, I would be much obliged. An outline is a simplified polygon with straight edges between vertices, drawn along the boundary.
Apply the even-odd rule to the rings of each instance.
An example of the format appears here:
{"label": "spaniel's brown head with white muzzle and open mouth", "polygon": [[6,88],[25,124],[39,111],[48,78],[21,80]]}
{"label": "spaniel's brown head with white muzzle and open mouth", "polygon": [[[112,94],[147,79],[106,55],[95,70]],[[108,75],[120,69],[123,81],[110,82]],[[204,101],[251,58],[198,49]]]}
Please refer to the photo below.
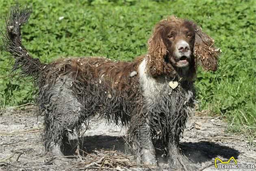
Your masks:
{"label": "spaniel's brown head with white muzzle and open mouth", "polygon": [[[192,21],[178,19],[174,16],[156,24],[152,37],[148,41],[148,71],[150,74],[152,76],[168,74],[167,71],[170,71],[170,68],[177,73],[183,73],[183,76],[184,73],[185,76],[195,74],[196,63],[198,60],[200,61],[202,49],[205,50],[209,47],[201,46],[204,40],[201,41],[201,44],[196,40],[200,39],[200,36],[197,35],[198,30]],[[195,43],[197,43],[196,46]],[[196,48],[200,51],[197,51],[198,55],[194,57]],[[216,61],[213,65],[216,66],[209,66],[208,63],[206,69],[217,69],[217,58],[211,57],[211,55],[208,55],[207,58],[213,58]],[[204,67],[204,65],[202,66]]]}

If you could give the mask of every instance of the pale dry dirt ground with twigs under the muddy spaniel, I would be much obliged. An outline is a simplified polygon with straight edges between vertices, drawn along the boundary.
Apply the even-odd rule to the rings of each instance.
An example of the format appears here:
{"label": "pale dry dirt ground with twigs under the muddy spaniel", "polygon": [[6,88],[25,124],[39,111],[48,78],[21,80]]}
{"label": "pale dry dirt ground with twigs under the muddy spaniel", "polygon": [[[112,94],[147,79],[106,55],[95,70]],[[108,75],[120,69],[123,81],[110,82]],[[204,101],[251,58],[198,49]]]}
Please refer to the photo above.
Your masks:
{"label": "pale dry dirt ground with twigs under the muddy spaniel", "polygon": [[[37,118],[34,106],[0,111],[0,171],[167,170],[163,169],[167,164],[160,150],[160,167],[136,165],[132,156],[124,153],[126,129],[97,118],[90,122],[84,134],[84,156],[45,156],[41,141],[42,122],[43,117]],[[189,120],[181,139],[183,154],[191,160],[191,165],[198,167],[198,171],[219,171],[221,169],[216,169],[214,165],[215,158],[227,161],[232,156],[241,167],[255,165],[254,169],[241,171],[256,170],[256,147],[242,135],[225,133],[225,127],[226,123],[219,117],[196,114]],[[53,159],[62,164],[54,164]]]}

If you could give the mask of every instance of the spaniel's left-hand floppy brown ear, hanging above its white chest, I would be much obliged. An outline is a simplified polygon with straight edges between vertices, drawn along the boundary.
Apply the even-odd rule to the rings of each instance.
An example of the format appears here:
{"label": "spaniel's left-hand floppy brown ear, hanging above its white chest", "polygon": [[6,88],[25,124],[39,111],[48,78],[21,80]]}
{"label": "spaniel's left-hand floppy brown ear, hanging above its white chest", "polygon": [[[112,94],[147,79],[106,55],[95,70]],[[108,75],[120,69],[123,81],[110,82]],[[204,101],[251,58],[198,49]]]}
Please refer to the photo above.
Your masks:
{"label": "spaniel's left-hand floppy brown ear, hanging above its white chest", "polygon": [[153,77],[162,75],[164,72],[164,57],[166,47],[162,40],[163,22],[156,25],[151,38],[148,40],[147,70]]}

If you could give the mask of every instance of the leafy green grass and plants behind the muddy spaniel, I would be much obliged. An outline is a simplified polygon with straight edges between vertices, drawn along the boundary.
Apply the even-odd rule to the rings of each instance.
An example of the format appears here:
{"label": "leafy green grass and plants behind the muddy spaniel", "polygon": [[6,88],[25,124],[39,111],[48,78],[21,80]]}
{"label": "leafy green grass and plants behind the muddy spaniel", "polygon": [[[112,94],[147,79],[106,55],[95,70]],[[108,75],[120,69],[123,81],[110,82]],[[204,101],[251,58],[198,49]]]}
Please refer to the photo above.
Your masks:
{"label": "leafy green grass and plants behind the muddy spaniel", "polygon": [[[14,1],[0,0],[0,29]],[[219,70],[197,74],[199,110],[223,116],[232,131],[256,137],[256,1],[35,1],[23,27],[23,43],[48,63],[59,57],[106,56],[132,60],[147,52],[154,25],[168,15],[199,23],[222,54]],[[59,17],[64,19],[59,20]],[[33,101],[31,78],[11,73],[7,53],[0,52],[0,106]]]}

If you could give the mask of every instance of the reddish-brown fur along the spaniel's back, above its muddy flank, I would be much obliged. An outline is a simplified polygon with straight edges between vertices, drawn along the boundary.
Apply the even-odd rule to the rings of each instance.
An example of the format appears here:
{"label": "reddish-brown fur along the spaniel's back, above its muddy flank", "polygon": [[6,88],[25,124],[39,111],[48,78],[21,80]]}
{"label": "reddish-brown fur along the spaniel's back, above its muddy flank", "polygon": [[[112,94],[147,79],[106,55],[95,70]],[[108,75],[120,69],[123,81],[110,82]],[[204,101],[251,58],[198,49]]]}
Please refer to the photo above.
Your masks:
{"label": "reddish-brown fur along the spaniel's back, above its muddy flank", "polygon": [[[104,57],[68,58],[58,59],[52,65],[63,73],[66,72],[67,65],[69,65],[69,69],[75,74],[74,78],[83,78],[81,76],[91,74],[95,80],[103,78],[104,81],[111,84],[112,88],[125,91],[130,84],[131,72],[137,72],[138,65],[144,57],[137,57],[132,62],[111,61]],[[137,74],[135,74],[136,76]],[[84,79],[82,81],[86,81],[88,78]]]}

